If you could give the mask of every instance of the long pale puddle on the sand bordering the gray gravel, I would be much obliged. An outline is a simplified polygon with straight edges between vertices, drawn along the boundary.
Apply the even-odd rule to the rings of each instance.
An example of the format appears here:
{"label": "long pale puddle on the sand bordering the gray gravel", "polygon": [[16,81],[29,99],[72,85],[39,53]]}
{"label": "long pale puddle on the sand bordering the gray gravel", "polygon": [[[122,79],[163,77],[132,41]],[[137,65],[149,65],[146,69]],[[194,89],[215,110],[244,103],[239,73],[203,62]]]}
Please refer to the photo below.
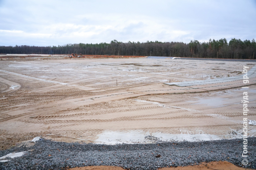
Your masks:
{"label": "long pale puddle on the sand bordering the gray gravel", "polygon": [[[196,133],[188,130],[180,130],[180,134],[162,133],[162,132],[145,132],[142,130],[131,131],[104,131],[97,135],[97,139],[92,141],[95,144],[151,144],[157,142],[197,142],[210,141],[220,139],[235,139],[242,138],[242,130],[236,131],[230,129],[223,135],[206,134],[202,130],[197,130]],[[255,129],[248,130],[249,136],[255,135]]]}

